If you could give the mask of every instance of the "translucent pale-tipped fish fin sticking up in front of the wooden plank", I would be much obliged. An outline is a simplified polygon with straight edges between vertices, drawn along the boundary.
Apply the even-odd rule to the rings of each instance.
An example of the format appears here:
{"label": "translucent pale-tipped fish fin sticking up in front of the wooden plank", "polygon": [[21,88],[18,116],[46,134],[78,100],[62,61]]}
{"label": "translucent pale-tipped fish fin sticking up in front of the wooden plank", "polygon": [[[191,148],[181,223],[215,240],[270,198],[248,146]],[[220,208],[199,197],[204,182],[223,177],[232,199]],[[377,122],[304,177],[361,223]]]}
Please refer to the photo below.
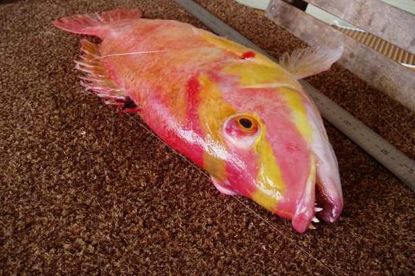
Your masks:
{"label": "translucent pale-tipped fish fin sticking up in front of the wooden plank", "polygon": [[291,72],[296,79],[304,79],[329,70],[343,53],[343,46],[335,49],[309,47],[298,49],[279,58],[279,65]]}

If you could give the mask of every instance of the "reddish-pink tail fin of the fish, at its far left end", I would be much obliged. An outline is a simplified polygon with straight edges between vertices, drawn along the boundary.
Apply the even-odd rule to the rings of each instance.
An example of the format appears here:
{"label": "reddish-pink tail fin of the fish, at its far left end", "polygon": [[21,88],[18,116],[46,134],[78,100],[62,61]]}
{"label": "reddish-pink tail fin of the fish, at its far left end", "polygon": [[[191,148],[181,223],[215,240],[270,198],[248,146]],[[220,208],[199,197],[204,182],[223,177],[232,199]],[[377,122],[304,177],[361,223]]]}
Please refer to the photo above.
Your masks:
{"label": "reddish-pink tail fin of the fish, at its far left end", "polygon": [[57,28],[74,32],[75,34],[89,34],[102,37],[102,26],[122,20],[140,19],[142,13],[138,8],[119,8],[101,14],[82,14],[64,17],[53,22]]}

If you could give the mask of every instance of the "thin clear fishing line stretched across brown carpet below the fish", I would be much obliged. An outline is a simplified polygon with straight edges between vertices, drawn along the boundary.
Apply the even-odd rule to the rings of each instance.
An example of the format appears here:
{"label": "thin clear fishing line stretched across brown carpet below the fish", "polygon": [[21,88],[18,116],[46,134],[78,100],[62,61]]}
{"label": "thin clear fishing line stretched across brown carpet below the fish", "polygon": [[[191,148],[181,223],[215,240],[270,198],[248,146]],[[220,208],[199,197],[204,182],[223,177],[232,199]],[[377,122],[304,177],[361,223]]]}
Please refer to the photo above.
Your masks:
{"label": "thin clear fishing line stretched across brown carpet below the fish", "polygon": [[[140,121],[138,121],[138,119],[136,119],[135,117],[133,117],[133,115],[130,115],[129,113],[125,113],[125,114],[127,114],[130,119],[132,119],[133,121],[135,121],[138,125],[140,125],[142,128],[144,128],[147,132],[149,132],[150,135],[156,137],[156,139],[158,139],[159,141],[161,141],[168,148],[172,149],[174,152],[176,152],[176,154],[178,156],[182,157],[185,161],[187,161],[187,163],[189,163],[190,165],[192,165],[194,168],[196,168],[197,170],[199,170],[199,172],[201,172],[203,175],[205,175],[205,177],[208,177],[208,179],[210,179],[210,175],[208,175],[205,171],[201,170],[201,168],[199,168],[194,163],[192,163],[192,161],[190,161],[189,159],[187,159],[186,157],[184,157],[180,152],[176,151],[174,148],[172,148],[171,146],[169,146],[165,141],[163,141],[163,139],[161,139],[160,137],[158,137],[153,131],[151,131],[149,128],[147,128],[147,126],[145,126]],[[252,208],[250,208],[248,205],[244,204],[243,201],[241,201],[241,199],[235,197],[234,195],[232,195],[232,197],[234,199],[236,199],[237,201],[239,201],[240,204],[242,204],[243,206],[245,206],[245,208],[247,208],[251,213],[255,214],[257,217],[259,217],[259,219],[261,219],[266,224],[268,224],[268,226],[270,226],[271,228],[273,228],[273,230],[277,231],[277,233],[279,233],[279,235],[282,235],[282,237],[284,237],[284,239],[288,240],[288,242],[291,242],[291,244],[294,244],[294,246],[297,247],[297,248],[299,248],[299,250],[302,250],[302,252],[305,255],[307,255],[308,257],[311,257],[311,259],[313,259],[315,262],[318,262],[318,263],[322,264],[322,266],[324,268],[326,268],[327,270],[329,270],[333,275],[336,275],[336,276],[338,275],[329,266],[327,266],[326,264],[324,264],[324,262],[320,261],[320,259],[317,259],[313,255],[311,255],[311,253],[309,253],[306,249],[302,248],[302,246],[300,246],[299,244],[297,244],[296,242],[294,242],[293,239],[289,238],[287,235],[285,235],[284,233],[282,233],[281,230],[279,230],[278,228],[276,228],[275,226],[273,226],[273,224],[271,224],[267,219],[264,219],[264,217],[261,217],[261,215],[259,215],[258,213],[256,213],[255,210],[252,210]]]}

